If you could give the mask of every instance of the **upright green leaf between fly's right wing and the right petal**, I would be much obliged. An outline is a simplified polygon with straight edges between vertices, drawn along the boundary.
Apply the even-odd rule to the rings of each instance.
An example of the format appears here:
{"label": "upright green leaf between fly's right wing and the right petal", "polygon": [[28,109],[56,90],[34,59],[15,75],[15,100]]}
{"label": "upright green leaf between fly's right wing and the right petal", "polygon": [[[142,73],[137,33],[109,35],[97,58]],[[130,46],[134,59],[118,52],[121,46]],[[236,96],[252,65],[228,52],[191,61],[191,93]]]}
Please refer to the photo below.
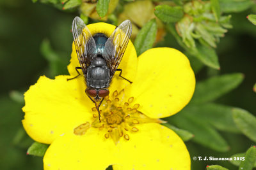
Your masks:
{"label": "upright green leaf between fly's right wing and the right petal", "polygon": [[134,41],[134,46],[138,56],[149,48],[152,48],[154,41],[156,40],[156,32],[156,19],[150,20],[141,28]]}

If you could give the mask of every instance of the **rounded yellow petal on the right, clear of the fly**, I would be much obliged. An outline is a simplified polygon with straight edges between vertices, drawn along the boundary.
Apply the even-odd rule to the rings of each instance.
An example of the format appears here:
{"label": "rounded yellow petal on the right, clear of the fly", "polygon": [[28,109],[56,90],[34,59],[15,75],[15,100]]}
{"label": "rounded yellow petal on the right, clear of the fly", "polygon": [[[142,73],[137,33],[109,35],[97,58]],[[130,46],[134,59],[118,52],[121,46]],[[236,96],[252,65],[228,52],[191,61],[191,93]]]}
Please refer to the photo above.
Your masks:
{"label": "rounded yellow petal on the right, clear of the fly", "polygon": [[173,48],[152,48],[138,57],[138,73],[129,90],[126,95],[134,97],[145,115],[168,117],[189,103],[195,75],[183,53]]}

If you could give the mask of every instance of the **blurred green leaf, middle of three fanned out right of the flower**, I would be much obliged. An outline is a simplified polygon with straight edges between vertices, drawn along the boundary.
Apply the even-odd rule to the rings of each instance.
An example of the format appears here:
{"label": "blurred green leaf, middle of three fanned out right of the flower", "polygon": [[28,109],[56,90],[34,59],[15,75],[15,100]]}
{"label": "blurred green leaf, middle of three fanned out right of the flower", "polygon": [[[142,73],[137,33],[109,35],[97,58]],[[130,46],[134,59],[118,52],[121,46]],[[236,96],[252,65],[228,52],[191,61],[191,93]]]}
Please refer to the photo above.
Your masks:
{"label": "blurred green leaf, middle of three fanned out right of the flower", "polygon": [[213,127],[225,132],[241,132],[236,127],[232,117],[232,107],[222,104],[205,103],[205,104],[189,104],[183,114],[193,115],[201,122],[208,122]]}

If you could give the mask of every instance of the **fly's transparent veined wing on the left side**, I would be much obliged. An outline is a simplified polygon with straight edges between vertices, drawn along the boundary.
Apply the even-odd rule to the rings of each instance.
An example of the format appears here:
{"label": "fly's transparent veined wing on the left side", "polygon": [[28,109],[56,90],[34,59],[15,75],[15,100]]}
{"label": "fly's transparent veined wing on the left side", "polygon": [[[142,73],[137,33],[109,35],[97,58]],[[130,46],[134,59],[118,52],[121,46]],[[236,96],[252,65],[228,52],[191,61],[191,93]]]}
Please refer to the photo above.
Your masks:
{"label": "fly's transparent veined wing on the left side", "polygon": [[92,59],[97,57],[95,54],[95,41],[92,38],[92,34],[89,29],[79,17],[76,17],[73,20],[72,33],[80,66],[83,73],[86,73],[87,67],[92,62]]}

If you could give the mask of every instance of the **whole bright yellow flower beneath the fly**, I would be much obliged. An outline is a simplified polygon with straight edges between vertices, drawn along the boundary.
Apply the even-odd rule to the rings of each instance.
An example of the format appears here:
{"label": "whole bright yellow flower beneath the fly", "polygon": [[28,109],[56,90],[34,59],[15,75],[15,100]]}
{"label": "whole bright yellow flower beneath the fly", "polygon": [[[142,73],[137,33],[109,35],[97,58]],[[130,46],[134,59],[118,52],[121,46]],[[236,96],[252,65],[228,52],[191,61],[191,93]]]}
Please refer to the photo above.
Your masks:
{"label": "whole bright yellow flower beneath the fly", "polygon": [[[109,36],[115,26],[88,29]],[[193,95],[195,76],[183,53],[152,48],[137,58],[130,41],[119,68],[133,83],[114,76],[100,106],[101,123],[83,76],[67,81],[77,75],[76,66],[73,44],[70,76],[41,76],[25,94],[24,129],[35,141],[51,144],[44,169],[190,169],[182,139],[158,119],[182,110]]]}

